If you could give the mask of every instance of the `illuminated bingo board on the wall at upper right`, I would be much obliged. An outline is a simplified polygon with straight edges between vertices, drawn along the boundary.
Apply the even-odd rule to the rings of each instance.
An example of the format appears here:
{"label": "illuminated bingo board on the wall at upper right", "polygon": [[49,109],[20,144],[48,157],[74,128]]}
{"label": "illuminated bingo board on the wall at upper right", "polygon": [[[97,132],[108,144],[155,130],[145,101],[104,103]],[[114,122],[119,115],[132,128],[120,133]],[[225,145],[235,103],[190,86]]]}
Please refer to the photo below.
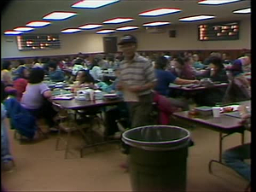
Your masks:
{"label": "illuminated bingo board on the wall at upper right", "polygon": [[239,39],[239,21],[209,23],[198,26],[198,40],[237,40]]}

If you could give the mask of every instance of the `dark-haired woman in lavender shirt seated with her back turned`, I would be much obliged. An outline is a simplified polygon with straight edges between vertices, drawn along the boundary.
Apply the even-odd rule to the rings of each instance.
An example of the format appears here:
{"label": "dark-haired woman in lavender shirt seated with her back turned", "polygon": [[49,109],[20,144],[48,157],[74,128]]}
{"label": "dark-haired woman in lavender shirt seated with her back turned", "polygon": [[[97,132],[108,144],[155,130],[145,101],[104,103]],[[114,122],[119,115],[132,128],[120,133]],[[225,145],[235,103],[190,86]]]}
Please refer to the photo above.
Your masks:
{"label": "dark-haired woman in lavender shirt seated with her back turned", "polygon": [[26,108],[35,117],[43,117],[49,130],[55,131],[55,110],[52,108],[48,99],[52,96],[49,87],[43,83],[44,69],[42,67],[32,68],[26,91],[21,98],[21,106]]}

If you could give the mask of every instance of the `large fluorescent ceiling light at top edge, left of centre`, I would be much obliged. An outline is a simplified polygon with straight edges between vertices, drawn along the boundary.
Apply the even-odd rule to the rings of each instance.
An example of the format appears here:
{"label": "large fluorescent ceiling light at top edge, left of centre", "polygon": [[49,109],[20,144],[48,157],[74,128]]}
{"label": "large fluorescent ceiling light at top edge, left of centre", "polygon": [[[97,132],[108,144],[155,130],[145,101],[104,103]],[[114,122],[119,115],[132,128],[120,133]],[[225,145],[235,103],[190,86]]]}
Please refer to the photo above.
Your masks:
{"label": "large fluorescent ceiling light at top edge, left of centre", "polygon": [[96,9],[102,6],[106,6],[108,4],[117,3],[119,0],[84,0],[74,3],[72,8],[88,8],[88,9]]}

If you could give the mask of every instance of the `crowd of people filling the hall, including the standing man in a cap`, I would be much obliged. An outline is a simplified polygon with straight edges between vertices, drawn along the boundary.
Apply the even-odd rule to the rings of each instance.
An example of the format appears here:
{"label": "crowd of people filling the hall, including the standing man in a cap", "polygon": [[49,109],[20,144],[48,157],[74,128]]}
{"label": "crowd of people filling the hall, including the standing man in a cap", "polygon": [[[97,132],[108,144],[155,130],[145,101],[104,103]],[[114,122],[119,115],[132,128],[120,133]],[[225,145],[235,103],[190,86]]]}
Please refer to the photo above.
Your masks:
{"label": "crowd of people filling the hall, including the standing man in a cap", "polygon": [[[200,61],[198,54],[182,53],[179,55],[143,55],[137,52],[137,38],[126,35],[119,42],[122,54],[102,54],[88,56],[79,53],[73,60],[65,57],[61,60],[38,59],[32,63],[19,60],[18,66],[12,67],[9,61],[3,61],[1,71],[1,88],[4,94],[15,98],[22,108],[32,116],[43,117],[50,131],[57,129],[55,110],[51,106],[52,92],[44,83],[44,78],[51,82],[67,82],[72,85],[72,91],[85,88],[98,89],[104,92],[119,91],[124,96],[125,106],[119,105],[107,111],[108,124],[115,123],[116,118],[124,118],[120,114],[125,109],[125,118],[128,119],[129,128],[141,125],[152,125],[150,113],[154,111],[153,103],[159,110],[159,124],[169,125],[170,115],[173,112],[189,110],[191,99],[197,106],[215,106],[218,102],[233,102],[250,99],[250,83],[244,79],[243,74],[250,72],[250,55],[242,55],[234,61],[228,60],[226,54],[212,52],[205,61]],[[112,84],[104,82],[105,71],[111,69],[115,80]],[[108,71],[109,72],[109,71]],[[231,76],[227,72],[230,72]],[[228,88],[212,88],[188,96],[182,92],[170,89],[169,84],[201,84],[201,82],[227,83]],[[237,83],[238,82],[238,83]],[[240,84],[241,90],[236,90],[234,84]],[[2,93],[1,93],[2,94]],[[133,96],[132,99],[127,96]],[[2,98],[2,111],[4,102]],[[127,104],[127,105],[126,105]],[[47,112],[47,113],[46,113]],[[2,162],[12,162],[9,153],[6,118],[2,113]],[[117,117],[118,116],[118,117]],[[108,125],[107,125],[108,126]],[[118,130],[117,130],[118,131]],[[111,131],[110,131],[111,132]],[[111,132],[113,134],[113,132]],[[2,143],[3,143],[2,142]],[[4,153],[4,155],[3,155]],[[229,154],[225,158],[228,163]],[[6,164],[7,165],[7,164]],[[124,164],[127,168],[127,165]],[[8,169],[8,168],[7,168]]]}

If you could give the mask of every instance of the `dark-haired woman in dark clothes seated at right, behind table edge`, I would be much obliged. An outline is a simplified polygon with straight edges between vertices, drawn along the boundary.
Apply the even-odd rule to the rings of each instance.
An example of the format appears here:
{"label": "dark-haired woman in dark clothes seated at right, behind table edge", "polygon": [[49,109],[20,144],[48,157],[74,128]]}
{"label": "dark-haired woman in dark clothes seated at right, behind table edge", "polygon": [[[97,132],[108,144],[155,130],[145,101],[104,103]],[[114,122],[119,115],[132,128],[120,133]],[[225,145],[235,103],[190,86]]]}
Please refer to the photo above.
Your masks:
{"label": "dark-haired woman in dark clothes seated at right, behind table edge", "polygon": [[[199,76],[209,78],[212,82],[229,83],[222,59],[218,56],[210,56],[207,60],[209,67]],[[199,106],[215,106],[217,102],[222,102],[225,91],[226,87],[204,90],[195,96],[195,102]]]}

